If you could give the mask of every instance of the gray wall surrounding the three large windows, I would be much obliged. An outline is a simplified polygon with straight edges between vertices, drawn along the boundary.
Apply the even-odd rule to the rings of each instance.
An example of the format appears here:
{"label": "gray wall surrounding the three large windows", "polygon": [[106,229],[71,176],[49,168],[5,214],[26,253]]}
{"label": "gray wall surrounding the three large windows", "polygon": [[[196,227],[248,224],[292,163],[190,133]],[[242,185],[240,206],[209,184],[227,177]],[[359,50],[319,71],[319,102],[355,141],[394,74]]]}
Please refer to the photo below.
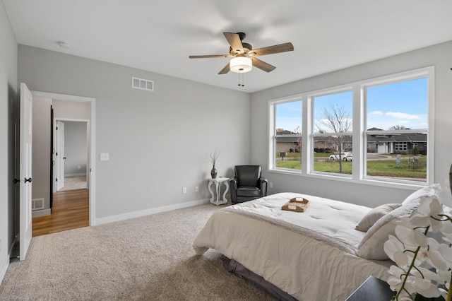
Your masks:
{"label": "gray wall surrounding the three large windows", "polygon": [[452,67],[451,53],[452,42],[446,42],[253,93],[251,95],[251,133],[253,133],[251,136],[251,153],[253,154],[251,163],[259,163],[264,166],[266,177],[273,182],[273,189],[270,189],[270,193],[295,191],[371,207],[382,203],[403,201],[405,196],[412,192],[411,190],[268,172],[268,100],[432,65],[436,67],[434,182],[440,182],[448,187],[448,172],[452,162],[450,134],[452,130],[452,71],[449,70]]}

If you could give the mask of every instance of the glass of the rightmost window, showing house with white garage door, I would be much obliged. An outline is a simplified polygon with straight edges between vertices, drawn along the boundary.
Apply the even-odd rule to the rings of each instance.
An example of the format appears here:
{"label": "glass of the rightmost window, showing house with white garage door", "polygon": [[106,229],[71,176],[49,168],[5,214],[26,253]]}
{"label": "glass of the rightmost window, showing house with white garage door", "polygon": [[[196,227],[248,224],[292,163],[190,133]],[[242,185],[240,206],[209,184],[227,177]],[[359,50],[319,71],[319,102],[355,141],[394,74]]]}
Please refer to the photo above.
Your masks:
{"label": "glass of the rightmost window, showing house with white garage door", "polygon": [[427,182],[427,85],[419,78],[367,88],[367,130],[377,131],[367,134],[367,175]]}

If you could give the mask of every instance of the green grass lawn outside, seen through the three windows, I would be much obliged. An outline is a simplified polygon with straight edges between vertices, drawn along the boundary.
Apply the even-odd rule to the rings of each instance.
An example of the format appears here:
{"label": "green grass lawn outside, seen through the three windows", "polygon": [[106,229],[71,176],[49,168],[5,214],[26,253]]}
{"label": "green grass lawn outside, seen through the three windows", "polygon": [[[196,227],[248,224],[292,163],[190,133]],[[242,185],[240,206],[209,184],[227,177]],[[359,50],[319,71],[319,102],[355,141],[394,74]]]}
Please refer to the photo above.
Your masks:
{"label": "green grass lawn outside, seen through the three windows", "polygon": [[[296,154],[289,157],[288,155]],[[284,160],[276,161],[276,167],[301,170],[302,163],[299,160],[299,153],[287,153],[287,157]],[[316,153],[316,157],[326,157],[329,153]],[[418,161],[417,168],[413,168],[413,165],[408,165],[408,160],[412,160],[412,156],[403,156],[400,160],[400,167],[396,166],[396,155],[390,155],[391,159],[384,160],[368,160],[367,161],[367,175],[377,177],[402,177],[402,178],[415,178],[425,179],[427,177],[427,157],[422,156]],[[352,162],[342,162],[343,174],[352,174]],[[314,161],[314,170],[316,172],[339,172],[338,161]]]}

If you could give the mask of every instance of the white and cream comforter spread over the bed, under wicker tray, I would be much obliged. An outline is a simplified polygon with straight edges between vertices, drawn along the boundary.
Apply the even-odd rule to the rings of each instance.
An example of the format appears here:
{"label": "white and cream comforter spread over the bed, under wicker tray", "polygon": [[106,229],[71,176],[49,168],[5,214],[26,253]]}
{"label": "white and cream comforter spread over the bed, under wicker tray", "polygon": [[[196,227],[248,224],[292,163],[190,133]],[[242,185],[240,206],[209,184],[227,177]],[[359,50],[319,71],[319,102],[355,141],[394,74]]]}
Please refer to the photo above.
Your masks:
{"label": "white and cream comforter spread over the bed, under wicker tray", "polygon": [[[304,213],[282,211],[293,197]],[[355,225],[371,208],[282,193],[213,213],[194,240],[196,254],[216,249],[298,300],[345,300],[370,275],[386,280],[392,261],[355,255],[365,232]]]}

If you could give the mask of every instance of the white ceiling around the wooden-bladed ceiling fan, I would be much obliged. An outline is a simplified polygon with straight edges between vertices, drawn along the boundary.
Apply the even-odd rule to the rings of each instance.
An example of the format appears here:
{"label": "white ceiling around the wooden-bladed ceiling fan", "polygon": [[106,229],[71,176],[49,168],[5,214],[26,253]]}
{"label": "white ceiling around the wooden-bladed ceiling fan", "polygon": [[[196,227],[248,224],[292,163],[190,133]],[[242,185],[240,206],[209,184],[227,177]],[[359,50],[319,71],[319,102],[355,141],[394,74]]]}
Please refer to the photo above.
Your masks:
{"label": "white ceiling around the wooden-bladed ceiling fan", "polygon": [[[3,0],[19,44],[254,92],[452,40],[450,0]],[[239,87],[223,32],[254,49],[292,42],[259,59]],[[71,47],[59,47],[58,41]],[[148,78],[152,80],[153,78]]]}

